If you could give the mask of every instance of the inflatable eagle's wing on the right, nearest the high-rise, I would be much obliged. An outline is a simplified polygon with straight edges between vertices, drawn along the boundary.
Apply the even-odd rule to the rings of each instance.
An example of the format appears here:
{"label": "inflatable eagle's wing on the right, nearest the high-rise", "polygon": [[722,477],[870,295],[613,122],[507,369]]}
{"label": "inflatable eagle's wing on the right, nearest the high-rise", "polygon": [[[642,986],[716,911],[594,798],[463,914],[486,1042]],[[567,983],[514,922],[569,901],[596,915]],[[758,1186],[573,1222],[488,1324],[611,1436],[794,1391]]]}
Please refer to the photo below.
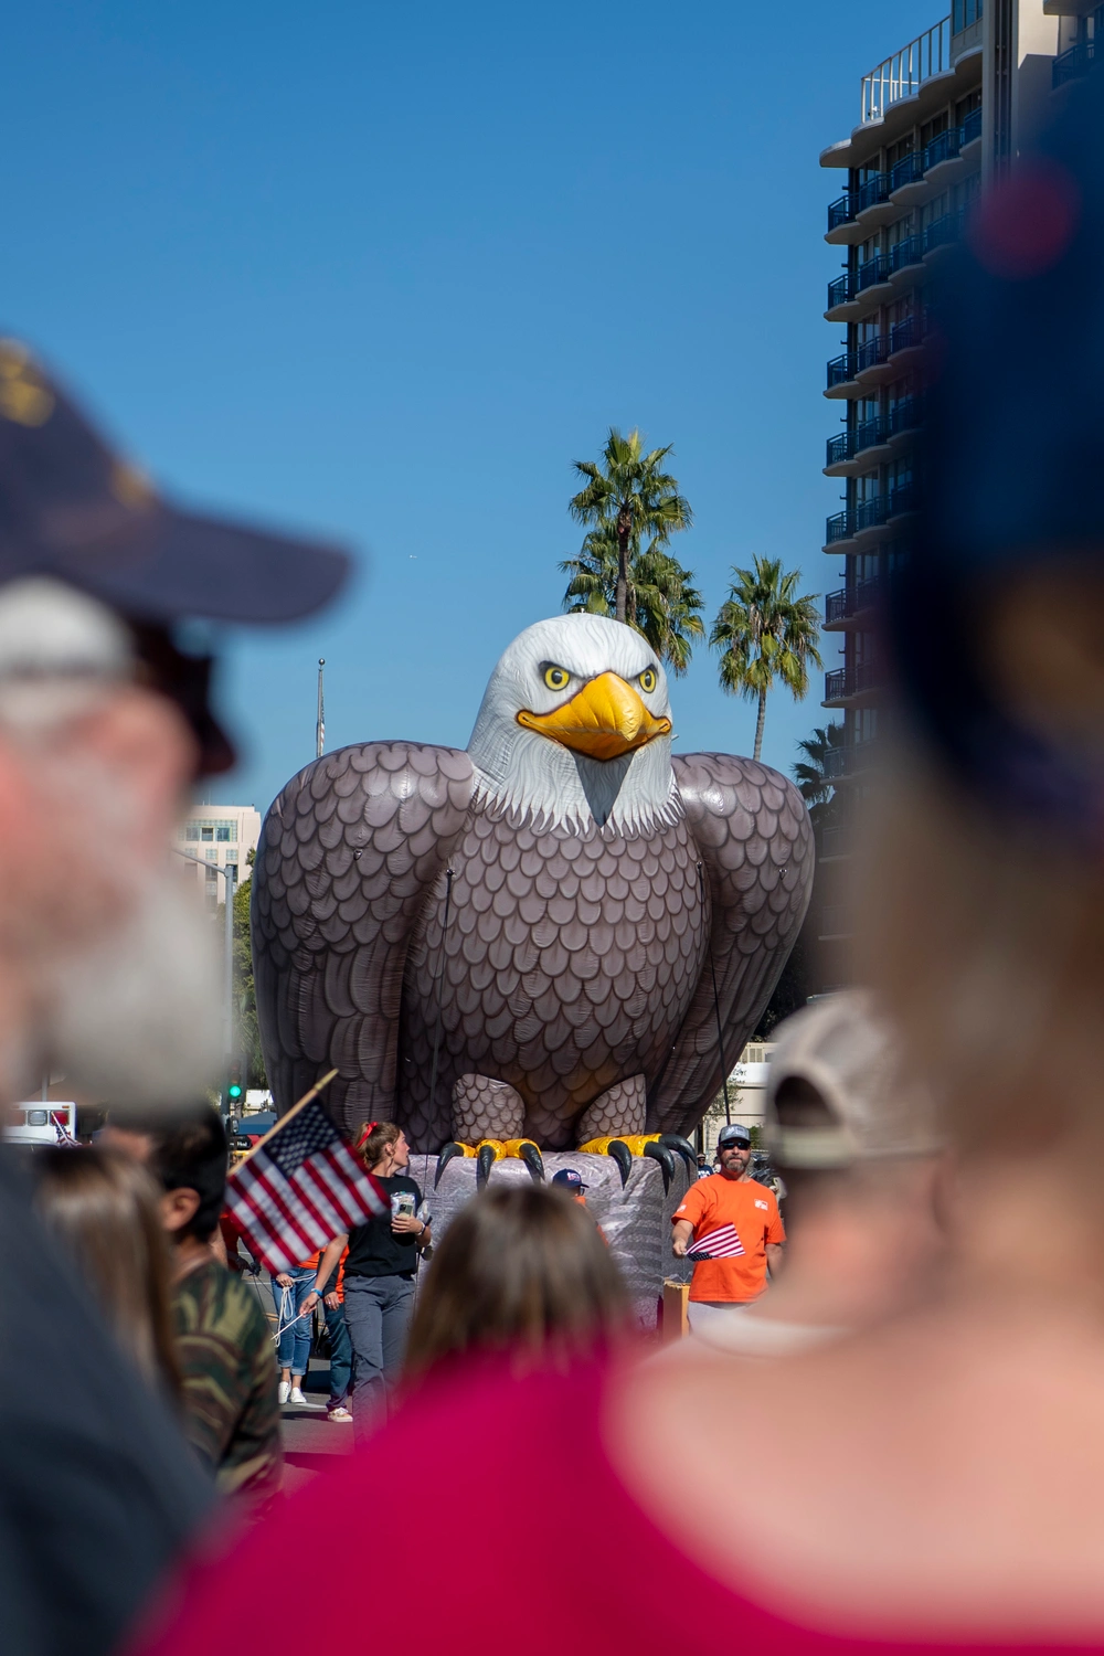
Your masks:
{"label": "inflatable eagle's wing on the right, nearest the high-rise", "polygon": [[649,1095],[652,1133],[689,1133],[705,1114],[722,1083],[717,1002],[732,1070],[775,990],[813,889],[813,830],[791,782],[728,753],[679,755],[674,770],[702,858],[710,952]]}

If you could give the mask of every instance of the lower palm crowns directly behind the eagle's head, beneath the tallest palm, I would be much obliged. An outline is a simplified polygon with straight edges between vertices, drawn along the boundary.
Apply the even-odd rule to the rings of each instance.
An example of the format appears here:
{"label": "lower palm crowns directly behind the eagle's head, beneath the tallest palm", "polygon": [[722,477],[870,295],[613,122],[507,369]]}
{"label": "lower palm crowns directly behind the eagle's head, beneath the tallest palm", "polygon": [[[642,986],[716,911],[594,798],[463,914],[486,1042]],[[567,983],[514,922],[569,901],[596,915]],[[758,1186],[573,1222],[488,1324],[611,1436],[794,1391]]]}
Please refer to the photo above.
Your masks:
{"label": "lower palm crowns directly behind the eagle's head, beneath the tallest palm", "polygon": [[[616,609],[621,550],[611,523],[593,528],[579,555],[559,568],[571,576],[563,595],[563,608],[571,614],[607,616]],[[644,634],[675,677],[690,664],[694,639],[705,636],[700,618],[705,604],[692,581],[694,573],[655,542],[646,551],[631,546],[624,619]]]}

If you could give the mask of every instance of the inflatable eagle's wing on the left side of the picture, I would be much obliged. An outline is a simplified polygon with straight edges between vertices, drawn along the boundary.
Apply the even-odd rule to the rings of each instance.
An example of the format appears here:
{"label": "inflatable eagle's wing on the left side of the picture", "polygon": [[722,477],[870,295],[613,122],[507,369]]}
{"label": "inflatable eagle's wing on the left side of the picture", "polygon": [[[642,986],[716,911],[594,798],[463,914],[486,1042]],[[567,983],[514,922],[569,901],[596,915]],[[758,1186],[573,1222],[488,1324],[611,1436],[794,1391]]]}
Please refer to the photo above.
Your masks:
{"label": "inflatable eagle's wing on the left side of the picture", "polygon": [[407,944],[470,798],[467,753],[366,742],[314,760],[271,805],[250,921],[276,1110],[336,1066],[336,1121],[394,1119]]}

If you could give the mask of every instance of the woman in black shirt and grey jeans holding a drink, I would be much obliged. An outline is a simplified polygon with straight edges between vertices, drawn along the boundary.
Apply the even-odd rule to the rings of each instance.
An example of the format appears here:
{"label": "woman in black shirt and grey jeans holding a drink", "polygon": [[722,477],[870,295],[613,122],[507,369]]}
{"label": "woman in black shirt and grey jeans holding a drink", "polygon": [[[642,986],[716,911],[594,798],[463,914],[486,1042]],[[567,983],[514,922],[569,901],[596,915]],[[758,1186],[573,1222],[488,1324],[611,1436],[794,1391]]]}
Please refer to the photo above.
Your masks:
{"label": "woman in black shirt and grey jeans holding a drink", "polygon": [[394,1121],[367,1121],[358,1151],[391,1197],[391,1216],[358,1225],[348,1239],[334,1237],[318,1262],[318,1278],[324,1280],[323,1268],[338,1262],[348,1240],[344,1320],[353,1340],[353,1429],[364,1437],[387,1418],[414,1315],[417,1257],[432,1235],[429,1220],[419,1219],[422,1192],[404,1171],[410,1146],[402,1129]]}

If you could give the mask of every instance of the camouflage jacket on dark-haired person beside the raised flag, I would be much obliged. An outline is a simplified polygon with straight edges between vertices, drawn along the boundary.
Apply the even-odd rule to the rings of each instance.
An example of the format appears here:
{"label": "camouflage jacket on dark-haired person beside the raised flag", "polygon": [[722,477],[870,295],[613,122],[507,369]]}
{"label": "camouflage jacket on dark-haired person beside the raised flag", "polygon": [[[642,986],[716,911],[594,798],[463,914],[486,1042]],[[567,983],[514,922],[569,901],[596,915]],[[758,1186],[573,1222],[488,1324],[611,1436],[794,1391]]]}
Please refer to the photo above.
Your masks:
{"label": "camouflage jacket on dark-haired person beside the raised flag", "polygon": [[283,1472],[268,1318],[253,1288],[215,1259],[180,1278],[172,1312],[189,1442],[223,1495],[257,1507]]}

